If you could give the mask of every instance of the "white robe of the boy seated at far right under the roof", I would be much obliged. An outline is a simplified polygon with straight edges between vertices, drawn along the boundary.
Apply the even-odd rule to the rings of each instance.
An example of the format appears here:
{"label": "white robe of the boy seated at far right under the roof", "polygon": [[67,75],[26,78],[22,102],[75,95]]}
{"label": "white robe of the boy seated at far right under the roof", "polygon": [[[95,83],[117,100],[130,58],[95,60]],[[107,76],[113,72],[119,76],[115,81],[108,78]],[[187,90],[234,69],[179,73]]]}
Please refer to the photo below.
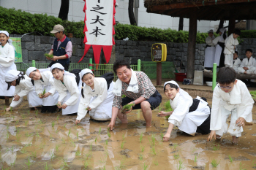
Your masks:
{"label": "white robe of the boy seated at far right under the roof", "polygon": [[[254,74],[255,72],[255,63],[256,60],[253,57],[250,57],[249,60],[248,58],[244,58],[243,61],[241,62],[240,67],[238,67],[238,73],[243,74],[246,72],[246,74]],[[244,70],[244,67],[247,67],[248,70]]]}

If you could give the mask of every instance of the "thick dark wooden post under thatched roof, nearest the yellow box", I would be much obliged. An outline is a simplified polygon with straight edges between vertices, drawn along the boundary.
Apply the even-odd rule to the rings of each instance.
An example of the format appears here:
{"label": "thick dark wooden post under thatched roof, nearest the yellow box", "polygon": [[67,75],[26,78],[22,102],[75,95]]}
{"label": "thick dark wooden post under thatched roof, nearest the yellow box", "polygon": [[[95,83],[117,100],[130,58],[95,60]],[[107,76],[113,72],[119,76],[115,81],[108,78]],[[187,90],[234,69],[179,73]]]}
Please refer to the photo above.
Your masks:
{"label": "thick dark wooden post under thatched roof, nearest the yellow box", "polygon": [[187,47],[187,78],[192,79],[195,72],[195,42],[197,38],[197,9],[189,18],[189,45]]}

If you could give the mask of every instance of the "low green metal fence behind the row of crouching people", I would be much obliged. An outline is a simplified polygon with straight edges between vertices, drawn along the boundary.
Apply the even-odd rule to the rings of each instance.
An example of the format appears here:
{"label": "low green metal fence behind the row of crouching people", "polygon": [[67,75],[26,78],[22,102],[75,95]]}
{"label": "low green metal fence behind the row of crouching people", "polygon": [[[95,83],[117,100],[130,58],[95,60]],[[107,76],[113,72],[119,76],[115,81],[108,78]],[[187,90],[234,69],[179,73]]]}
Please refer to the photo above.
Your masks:
{"label": "low green metal fence behind the row of crouching people", "polygon": [[[21,72],[26,72],[26,69],[28,69],[31,66],[36,67],[37,69],[46,69],[49,65],[49,63],[36,63],[34,60],[32,63],[15,63],[17,66],[17,70]],[[113,64],[103,64],[99,63],[98,68],[96,63],[92,63],[92,59],[90,59],[90,63],[70,63],[69,64],[69,72],[71,72],[73,69],[91,69],[94,72],[95,77],[99,77],[102,74],[112,72],[115,76],[114,80],[117,80],[116,74],[113,72]],[[138,60],[138,65],[131,65],[131,69],[135,71],[140,71],[140,59]]]}

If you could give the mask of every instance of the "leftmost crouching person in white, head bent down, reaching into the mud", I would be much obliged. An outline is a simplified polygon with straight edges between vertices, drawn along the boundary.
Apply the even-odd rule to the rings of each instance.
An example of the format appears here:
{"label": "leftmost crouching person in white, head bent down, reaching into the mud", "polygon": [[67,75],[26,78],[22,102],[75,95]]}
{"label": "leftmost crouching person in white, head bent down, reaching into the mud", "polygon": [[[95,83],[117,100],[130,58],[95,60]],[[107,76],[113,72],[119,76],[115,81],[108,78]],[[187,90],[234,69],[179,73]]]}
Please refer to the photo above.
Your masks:
{"label": "leftmost crouching person in white, head bent down, reaching into the mud", "polygon": [[[34,91],[34,84],[31,79],[24,75],[23,72],[17,70],[10,70],[4,77],[5,82],[8,84],[7,90],[10,89],[11,85],[15,86],[14,98],[10,107],[6,111],[10,111],[11,107],[18,107],[18,105],[23,101],[23,96],[28,96],[29,107],[37,107],[42,105],[42,99],[37,96]],[[36,108],[35,108],[36,109]]]}

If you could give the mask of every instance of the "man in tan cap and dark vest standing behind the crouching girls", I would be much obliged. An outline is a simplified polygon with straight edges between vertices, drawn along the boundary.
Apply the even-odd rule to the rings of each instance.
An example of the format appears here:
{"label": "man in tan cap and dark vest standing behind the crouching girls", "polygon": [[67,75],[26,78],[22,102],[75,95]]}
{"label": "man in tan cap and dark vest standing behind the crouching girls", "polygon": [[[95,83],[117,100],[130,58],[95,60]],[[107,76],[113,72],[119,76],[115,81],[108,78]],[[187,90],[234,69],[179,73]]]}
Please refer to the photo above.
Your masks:
{"label": "man in tan cap and dark vest standing behind the crouching girls", "polygon": [[64,69],[68,71],[69,58],[72,55],[72,42],[64,34],[64,27],[59,24],[54,26],[53,31],[50,31],[50,33],[54,34],[56,39],[54,39],[53,46],[49,52],[49,54],[53,54],[53,58],[47,58],[52,60],[48,67],[54,63],[61,63]]}

